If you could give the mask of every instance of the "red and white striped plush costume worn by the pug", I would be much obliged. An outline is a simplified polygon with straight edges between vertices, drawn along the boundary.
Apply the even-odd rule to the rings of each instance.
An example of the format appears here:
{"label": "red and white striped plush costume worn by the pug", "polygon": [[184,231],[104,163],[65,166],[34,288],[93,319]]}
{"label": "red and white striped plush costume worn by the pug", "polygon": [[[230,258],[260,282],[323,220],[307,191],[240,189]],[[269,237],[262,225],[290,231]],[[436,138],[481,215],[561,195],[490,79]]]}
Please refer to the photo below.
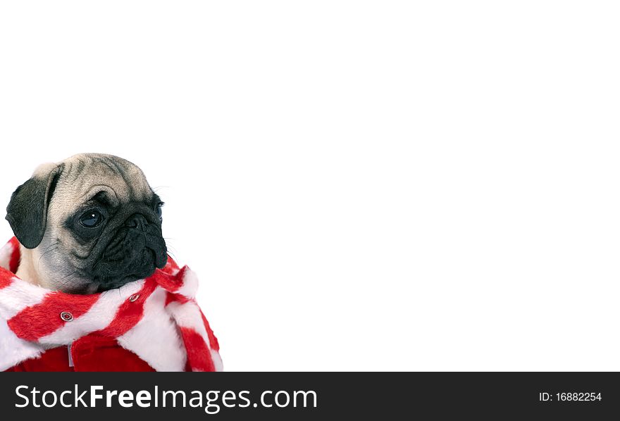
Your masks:
{"label": "red and white striped plush costume worn by the pug", "polygon": [[16,277],[20,244],[0,249],[0,371],[221,371],[218,340],[194,296],[198,279],[162,270],[99,294],[50,291]]}

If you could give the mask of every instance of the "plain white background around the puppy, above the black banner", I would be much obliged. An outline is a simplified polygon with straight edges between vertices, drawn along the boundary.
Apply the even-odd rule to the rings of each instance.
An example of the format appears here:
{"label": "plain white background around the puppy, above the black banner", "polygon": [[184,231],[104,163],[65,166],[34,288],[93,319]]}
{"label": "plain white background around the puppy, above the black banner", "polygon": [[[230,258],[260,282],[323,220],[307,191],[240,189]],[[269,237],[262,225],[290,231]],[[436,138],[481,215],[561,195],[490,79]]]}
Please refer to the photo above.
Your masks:
{"label": "plain white background around the puppy, above the black banner", "polygon": [[42,162],[140,165],[227,370],[620,370],[619,19],[3,2],[2,206]]}

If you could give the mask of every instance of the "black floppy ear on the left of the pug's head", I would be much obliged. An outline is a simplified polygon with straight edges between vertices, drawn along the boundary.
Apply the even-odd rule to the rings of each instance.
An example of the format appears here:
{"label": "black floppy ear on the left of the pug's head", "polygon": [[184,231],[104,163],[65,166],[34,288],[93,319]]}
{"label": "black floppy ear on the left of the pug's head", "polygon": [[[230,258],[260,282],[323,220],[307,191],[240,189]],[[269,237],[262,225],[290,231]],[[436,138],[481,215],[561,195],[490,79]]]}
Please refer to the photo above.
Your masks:
{"label": "black floppy ear on the left of the pug's head", "polygon": [[41,243],[47,222],[47,206],[54,194],[62,165],[48,175],[36,175],[13,191],[6,207],[6,220],[13,234],[26,249]]}

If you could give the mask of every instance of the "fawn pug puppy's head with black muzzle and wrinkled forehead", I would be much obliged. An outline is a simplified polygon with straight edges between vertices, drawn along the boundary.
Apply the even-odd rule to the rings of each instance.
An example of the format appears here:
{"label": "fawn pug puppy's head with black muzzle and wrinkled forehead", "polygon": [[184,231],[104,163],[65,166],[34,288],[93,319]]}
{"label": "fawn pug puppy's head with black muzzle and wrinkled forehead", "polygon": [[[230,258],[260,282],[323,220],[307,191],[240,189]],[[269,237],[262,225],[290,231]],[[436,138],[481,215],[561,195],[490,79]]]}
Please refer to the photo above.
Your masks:
{"label": "fawn pug puppy's head with black muzzle and wrinkled forehead", "polygon": [[84,153],[41,165],[11,196],[20,279],[92,294],[152,275],[168,260],[163,202],[136,165]]}

